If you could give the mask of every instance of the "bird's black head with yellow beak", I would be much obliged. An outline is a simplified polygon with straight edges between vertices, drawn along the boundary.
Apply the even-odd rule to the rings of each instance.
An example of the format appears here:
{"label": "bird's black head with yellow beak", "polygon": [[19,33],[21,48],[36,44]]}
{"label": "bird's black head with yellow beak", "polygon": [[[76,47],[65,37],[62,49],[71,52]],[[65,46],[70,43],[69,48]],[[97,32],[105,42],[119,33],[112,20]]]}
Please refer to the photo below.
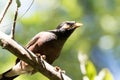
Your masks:
{"label": "bird's black head with yellow beak", "polygon": [[77,23],[75,21],[65,21],[57,26],[56,32],[60,38],[68,38],[76,28],[82,25],[82,23]]}

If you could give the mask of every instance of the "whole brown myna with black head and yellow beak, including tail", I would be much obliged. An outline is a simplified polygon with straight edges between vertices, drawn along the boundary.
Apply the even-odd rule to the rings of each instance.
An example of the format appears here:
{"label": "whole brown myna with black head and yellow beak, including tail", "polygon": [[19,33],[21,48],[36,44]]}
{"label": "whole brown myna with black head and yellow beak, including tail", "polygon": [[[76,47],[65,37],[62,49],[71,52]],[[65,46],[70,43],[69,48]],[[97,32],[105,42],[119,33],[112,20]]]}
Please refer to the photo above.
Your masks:
{"label": "whole brown myna with black head and yellow beak, including tail", "polygon": [[[79,26],[82,26],[82,24],[76,23],[75,21],[62,22],[54,30],[43,31],[35,35],[25,48],[36,55],[45,55],[45,60],[49,64],[52,64],[59,57],[61,49],[68,37]],[[32,71],[33,68],[27,63],[17,59],[14,67],[1,74],[0,80],[13,80],[20,74],[32,73]]]}

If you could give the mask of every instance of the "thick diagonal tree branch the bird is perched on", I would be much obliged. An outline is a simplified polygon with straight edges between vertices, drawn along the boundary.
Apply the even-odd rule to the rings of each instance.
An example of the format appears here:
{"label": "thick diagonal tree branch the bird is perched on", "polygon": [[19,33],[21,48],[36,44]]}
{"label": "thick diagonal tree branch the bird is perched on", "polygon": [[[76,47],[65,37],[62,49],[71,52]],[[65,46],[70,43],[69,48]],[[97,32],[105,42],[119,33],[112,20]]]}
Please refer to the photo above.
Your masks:
{"label": "thick diagonal tree branch the bird is perched on", "polygon": [[[42,73],[43,75],[45,75],[51,80],[72,80],[68,76],[66,76],[64,73],[62,73],[60,70],[56,70],[55,67],[48,64],[41,57],[40,58],[37,57],[29,50],[20,46],[16,41],[11,39],[11,37],[4,34],[3,32],[0,32],[0,46],[10,51],[19,59],[25,61],[27,64],[33,67],[36,71]],[[36,58],[36,60],[34,57]],[[43,66],[43,63],[44,63],[44,66]]]}

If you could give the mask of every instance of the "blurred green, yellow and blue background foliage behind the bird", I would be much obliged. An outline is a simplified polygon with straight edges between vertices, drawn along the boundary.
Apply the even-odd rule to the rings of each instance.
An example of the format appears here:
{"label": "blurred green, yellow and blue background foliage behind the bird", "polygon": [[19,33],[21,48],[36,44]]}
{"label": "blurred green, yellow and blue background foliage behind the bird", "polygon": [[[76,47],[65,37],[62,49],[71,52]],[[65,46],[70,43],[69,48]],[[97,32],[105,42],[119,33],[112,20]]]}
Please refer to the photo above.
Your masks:
{"label": "blurred green, yellow and blue background foliage behind the bird", "polygon": [[[73,80],[120,79],[120,0],[20,0],[15,39],[25,45],[40,31],[67,20],[84,24],[68,39],[54,66]],[[7,0],[0,0],[2,13]],[[16,9],[13,0],[0,30],[9,34]],[[25,13],[26,12],[26,13]],[[16,57],[0,48],[0,73],[14,65]],[[48,80],[40,73],[24,74],[15,80]]]}

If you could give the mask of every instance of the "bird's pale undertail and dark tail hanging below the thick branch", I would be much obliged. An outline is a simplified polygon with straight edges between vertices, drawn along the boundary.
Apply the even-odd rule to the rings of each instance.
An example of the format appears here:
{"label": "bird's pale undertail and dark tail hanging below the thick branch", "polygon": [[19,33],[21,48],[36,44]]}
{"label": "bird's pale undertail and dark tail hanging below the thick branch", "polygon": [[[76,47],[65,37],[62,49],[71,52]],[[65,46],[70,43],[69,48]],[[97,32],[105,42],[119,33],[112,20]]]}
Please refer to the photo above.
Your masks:
{"label": "bird's pale undertail and dark tail hanging below the thick branch", "polygon": [[0,74],[0,80],[13,80],[20,74],[25,74],[25,73],[31,74],[32,71],[33,68],[31,66],[29,66],[24,61],[20,61],[8,71],[4,72],[3,74]]}

